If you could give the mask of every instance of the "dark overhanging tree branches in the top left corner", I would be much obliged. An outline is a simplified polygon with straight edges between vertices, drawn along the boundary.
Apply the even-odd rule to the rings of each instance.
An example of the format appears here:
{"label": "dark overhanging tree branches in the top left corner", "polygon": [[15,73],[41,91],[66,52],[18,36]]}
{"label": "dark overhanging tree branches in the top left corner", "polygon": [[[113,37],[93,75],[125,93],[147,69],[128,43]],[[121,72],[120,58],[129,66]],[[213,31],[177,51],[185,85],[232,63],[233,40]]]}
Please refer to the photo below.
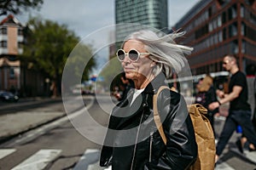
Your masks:
{"label": "dark overhanging tree branches in the top left corner", "polygon": [[9,13],[20,14],[21,10],[40,8],[44,0],[0,0],[0,16]]}

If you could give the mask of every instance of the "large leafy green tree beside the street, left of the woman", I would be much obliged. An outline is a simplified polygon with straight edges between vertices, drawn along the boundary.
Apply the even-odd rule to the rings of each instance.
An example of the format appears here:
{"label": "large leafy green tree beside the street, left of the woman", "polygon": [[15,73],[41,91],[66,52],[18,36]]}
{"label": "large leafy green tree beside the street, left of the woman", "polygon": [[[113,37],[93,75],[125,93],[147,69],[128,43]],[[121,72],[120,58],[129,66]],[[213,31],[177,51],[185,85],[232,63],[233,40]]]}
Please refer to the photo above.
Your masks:
{"label": "large leafy green tree beside the street, left of the woman", "polygon": [[[69,54],[79,43],[79,37],[67,26],[58,25],[50,20],[32,18],[28,21],[25,31],[25,45],[23,59],[31,62],[34,69],[47,75],[55,84],[54,95],[61,92],[61,74]],[[90,46],[83,45],[84,54],[92,54]],[[83,53],[80,50],[79,53]],[[77,58],[79,59],[79,58]],[[90,70],[96,65],[94,59],[90,59],[90,65],[84,69],[83,79],[89,77]],[[76,67],[79,65],[73,65]],[[75,70],[75,68],[74,68]],[[73,73],[73,77],[76,73]]]}

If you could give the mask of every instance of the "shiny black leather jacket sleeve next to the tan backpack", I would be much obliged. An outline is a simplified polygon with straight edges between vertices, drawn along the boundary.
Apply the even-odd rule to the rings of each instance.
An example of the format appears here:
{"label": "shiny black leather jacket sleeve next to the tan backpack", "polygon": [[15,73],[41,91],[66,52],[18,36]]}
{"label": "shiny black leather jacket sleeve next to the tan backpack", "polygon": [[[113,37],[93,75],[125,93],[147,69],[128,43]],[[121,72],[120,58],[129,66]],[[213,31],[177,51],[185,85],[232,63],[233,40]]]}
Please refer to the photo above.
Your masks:
{"label": "shiny black leather jacket sleeve next to the tan backpack", "polygon": [[[157,168],[183,170],[197,157],[194,127],[183,96],[171,93],[169,97],[159,95],[158,108],[166,134],[166,153],[160,157]],[[154,168],[153,168],[154,169]]]}

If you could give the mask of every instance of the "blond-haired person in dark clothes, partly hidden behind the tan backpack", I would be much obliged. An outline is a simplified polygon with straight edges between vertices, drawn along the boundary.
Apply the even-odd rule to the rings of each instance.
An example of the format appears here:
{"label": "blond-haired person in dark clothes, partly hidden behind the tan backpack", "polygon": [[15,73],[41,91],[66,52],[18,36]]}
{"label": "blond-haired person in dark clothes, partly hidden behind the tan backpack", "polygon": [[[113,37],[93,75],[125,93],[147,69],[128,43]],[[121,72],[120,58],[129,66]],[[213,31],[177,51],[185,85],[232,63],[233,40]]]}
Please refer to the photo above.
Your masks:
{"label": "blond-haired person in dark clothes, partly hidden behind the tan backpack", "polygon": [[209,110],[208,105],[212,102],[218,101],[217,95],[215,93],[215,88],[213,87],[213,79],[210,75],[207,75],[197,84],[197,94],[195,95],[195,103],[201,104],[207,109],[207,118],[212,125],[212,131],[215,136],[214,131],[214,115],[218,113],[218,108],[214,111]]}

